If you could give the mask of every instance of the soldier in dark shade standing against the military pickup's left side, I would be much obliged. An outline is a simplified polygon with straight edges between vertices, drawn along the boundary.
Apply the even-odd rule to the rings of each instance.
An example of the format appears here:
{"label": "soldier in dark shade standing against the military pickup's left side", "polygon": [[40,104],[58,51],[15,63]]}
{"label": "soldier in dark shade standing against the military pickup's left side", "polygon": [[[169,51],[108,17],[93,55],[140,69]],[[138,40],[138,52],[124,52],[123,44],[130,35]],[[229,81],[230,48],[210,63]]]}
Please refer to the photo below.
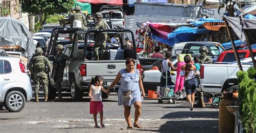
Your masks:
{"label": "soldier in dark shade standing against the military pickup's left side", "polygon": [[54,57],[53,61],[53,69],[52,69],[52,78],[55,81],[55,85],[58,91],[58,99],[55,100],[62,100],[62,87],[60,82],[63,80],[64,68],[66,65],[66,60],[68,60],[68,56],[63,54],[63,45],[57,45],[56,51],[57,55]]}

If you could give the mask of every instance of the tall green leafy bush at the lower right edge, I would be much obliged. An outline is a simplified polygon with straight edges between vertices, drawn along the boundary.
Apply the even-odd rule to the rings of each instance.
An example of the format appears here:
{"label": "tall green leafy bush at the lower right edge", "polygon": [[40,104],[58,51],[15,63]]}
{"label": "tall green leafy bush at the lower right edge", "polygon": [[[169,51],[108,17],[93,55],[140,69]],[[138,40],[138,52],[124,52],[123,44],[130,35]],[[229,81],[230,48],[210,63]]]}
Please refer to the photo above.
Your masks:
{"label": "tall green leafy bush at the lower right edge", "polygon": [[246,132],[256,132],[256,83],[253,78],[255,68],[238,71],[240,115]]}

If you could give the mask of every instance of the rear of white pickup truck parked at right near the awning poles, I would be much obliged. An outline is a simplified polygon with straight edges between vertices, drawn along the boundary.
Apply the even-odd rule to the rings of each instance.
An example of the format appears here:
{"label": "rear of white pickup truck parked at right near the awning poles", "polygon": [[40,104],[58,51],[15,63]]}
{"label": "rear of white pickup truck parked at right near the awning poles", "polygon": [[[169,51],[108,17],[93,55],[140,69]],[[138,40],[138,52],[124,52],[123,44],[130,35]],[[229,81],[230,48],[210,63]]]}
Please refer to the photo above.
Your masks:
{"label": "rear of white pickup truck parked at right near the awning poles", "polygon": [[[251,64],[242,64],[246,71]],[[220,94],[224,90],[232,90],[238,85],[237,64],[202,64],[200,69],[200,89],[212,94]]]}

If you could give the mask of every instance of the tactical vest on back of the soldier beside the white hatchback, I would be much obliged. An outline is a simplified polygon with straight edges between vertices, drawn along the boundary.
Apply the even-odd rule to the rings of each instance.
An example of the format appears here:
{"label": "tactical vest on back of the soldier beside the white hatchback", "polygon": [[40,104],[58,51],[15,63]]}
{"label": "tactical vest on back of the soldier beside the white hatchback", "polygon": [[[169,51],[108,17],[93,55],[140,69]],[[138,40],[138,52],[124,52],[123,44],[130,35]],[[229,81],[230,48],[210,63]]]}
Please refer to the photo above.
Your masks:
{"label": "tactical vest on back of the soldier beside the white hatchback", "polygon": [[44,56],[38,55],[34,58],[33,69],[36,73],[45,71]]}

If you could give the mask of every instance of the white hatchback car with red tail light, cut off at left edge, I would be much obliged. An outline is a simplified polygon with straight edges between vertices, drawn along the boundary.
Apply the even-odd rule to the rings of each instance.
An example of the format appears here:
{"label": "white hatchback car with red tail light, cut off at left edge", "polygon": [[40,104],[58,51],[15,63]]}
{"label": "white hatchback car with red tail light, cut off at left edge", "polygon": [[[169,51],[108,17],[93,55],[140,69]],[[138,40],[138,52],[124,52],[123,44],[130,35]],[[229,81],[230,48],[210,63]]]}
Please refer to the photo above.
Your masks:
{"label": "white hatchback car with red tail light, cut off at left edge", "polygon": [[20,58],[0,56],[0,107],[21,111],[32,99],[30,77]]}

